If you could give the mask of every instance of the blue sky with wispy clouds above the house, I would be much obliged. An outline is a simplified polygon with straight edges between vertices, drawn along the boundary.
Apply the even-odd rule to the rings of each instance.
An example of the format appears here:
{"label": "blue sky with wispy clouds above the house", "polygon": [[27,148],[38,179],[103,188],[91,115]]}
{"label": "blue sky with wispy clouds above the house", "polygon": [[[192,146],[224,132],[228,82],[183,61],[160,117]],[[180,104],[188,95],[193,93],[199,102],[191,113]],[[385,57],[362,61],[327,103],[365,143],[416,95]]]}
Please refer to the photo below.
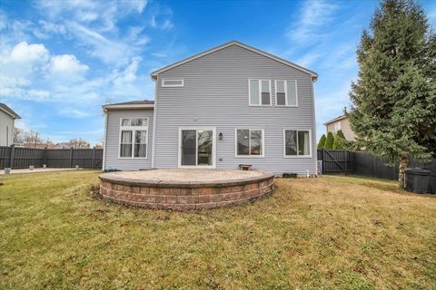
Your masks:
{"label": "blue sky with wispy clouds above the house", "polygon": [[[355,50],[377,1],[9,1],[0,102],[54,142],[103,139],[105,102],[154,99],[149,73],[239,40],[319,73],[317,136],[349,105]],[[436,27],[436,2],[421,1]]]}

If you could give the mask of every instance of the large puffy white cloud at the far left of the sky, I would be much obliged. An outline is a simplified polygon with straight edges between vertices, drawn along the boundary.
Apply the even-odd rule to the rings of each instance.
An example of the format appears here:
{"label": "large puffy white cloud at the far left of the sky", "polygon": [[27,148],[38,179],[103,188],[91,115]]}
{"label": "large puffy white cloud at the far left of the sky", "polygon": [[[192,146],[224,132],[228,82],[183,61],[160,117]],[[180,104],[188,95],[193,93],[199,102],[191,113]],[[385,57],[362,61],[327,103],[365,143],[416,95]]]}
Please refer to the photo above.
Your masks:
{"label": "large puffy white cloud at the far left of the sky", "polygon": [[73,54],[50,55],[42,43],[17,43],[9,51],[2,50],[0,56],[0,95],[3,98],[62,101],[66,97],[63,91],[74,91],[69,83],[83,80],[89,69]]}

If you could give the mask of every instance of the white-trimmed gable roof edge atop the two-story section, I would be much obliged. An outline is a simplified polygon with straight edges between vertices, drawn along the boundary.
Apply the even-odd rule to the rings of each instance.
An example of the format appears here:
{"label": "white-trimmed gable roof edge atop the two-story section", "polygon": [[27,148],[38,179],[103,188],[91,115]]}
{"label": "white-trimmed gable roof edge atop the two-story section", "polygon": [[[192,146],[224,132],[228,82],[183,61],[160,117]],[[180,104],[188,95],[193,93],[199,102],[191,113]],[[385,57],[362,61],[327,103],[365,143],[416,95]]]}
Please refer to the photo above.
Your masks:
{"label": "white-trimmed gable roof edge atop the two-story section", "polygon": [[285,59],[282,59],[282,58],[280,58],[278,56],[272,55],[271,53],[265,53],[265,52],[263,52],[263,51],[261,51],[261,50],[259,50],[257,48],[254,48],[253,46],[250,46],[250,45],[247,45],[247,44],[244,44],[244,43],[240,43],[240,42],[237,42],[237,41],[232,41],[232,42],[229,42],[229,43],[224,43],[222,45],[216,46],[216,47],[214,47],[214,48],[212,48],[210,50],[207,50],[207,51],[205,51],[203,53],[194,54],[193,56],[188,57],[188,58],[186,58],[186,59],[184,59],[184,60],[182,60],[180,62],[164,66],[162,69],[159,69],[159,70],[154,71],[153,73],[151,73],[152,79],[156,80],[157,79],[157,75],[159,73],[163,73],[163,72],[169,71],[169,70],[173,69],[174,67],[182,65],[183,63],[189,63],[189,62],[191,62],[193,60],[196,60],[196,59],[198,59],[200,57],[203,57],[204,55],[215,53],[215,52],[220,51],[220,50],[222,50],[222,49],[224,49],[226,47],[229,47],[231,45],[237,45],[237,46],[242,47],[242,48],[244,48],[246,50],[249,50],[249,51],[251,51],[253,53],[258,53],[258,54],[261,54],[263,56],[266,56],[266,57],[268,57],[268,58],[270,58],[270,59],[272,59],[274,61],[277,61],[279,63],[284,63],[284,64],[286,64],[286,65],[288,65],[288,66],[290,66],[290,67],[292,67],[292,68],[294,68],[296,70],[299,70],[299,71],[303,72],[303,73],[308,73],[308,74],[310,74],[312,76],[312,80],[313,81],[316,81],[316,79],[318,78],[318,73],[314,73],[311,70],[303,68],[302,66],[300,66],[298,64],[288,62]]}

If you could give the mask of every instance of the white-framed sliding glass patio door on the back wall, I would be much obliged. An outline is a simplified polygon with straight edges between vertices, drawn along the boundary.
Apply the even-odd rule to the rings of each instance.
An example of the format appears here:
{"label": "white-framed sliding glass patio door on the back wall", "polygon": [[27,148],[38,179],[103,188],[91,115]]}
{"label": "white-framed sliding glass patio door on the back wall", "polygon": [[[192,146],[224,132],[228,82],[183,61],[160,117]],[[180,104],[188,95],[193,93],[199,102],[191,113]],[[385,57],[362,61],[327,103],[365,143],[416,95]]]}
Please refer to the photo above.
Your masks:
{"label": "white-framed sliding glass patio door on the back wall", "polygon": [[215,129],[179,129],[179,167],[215,167]]}

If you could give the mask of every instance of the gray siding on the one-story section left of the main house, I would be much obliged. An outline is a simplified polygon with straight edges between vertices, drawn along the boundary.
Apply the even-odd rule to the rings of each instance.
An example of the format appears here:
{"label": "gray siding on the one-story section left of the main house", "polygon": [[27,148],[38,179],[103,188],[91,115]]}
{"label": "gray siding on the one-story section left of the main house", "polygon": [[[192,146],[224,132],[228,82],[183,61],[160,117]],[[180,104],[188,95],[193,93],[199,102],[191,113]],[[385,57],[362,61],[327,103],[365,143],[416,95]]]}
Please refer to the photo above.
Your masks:
{"label": "gray siding on the one-story section left of the main house", "polygon": [[[119,159],[121,118],[148,118],[148,144],[146,159]],[[107,111],[104,169],[150,169],[153,151],[153,109]]]}

